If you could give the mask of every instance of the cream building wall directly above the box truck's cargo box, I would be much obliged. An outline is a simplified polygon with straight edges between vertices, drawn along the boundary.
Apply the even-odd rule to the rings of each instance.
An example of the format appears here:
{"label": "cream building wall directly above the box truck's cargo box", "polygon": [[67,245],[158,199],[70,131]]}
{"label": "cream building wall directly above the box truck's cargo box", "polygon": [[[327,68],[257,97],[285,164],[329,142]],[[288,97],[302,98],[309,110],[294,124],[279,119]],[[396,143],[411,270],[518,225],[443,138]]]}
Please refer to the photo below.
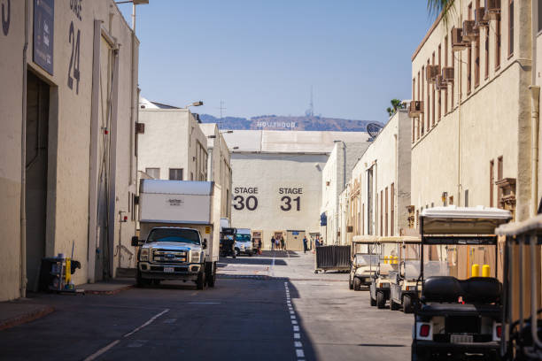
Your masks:
{"label": "cream building wall directly above the box truck's cargo box", "polygon": [[[159,178],[167,180],[170,168],[182,168],[183,180],[206,180],[207,138],[190,111],[140,109],[139,121],[145,125],[139,135],[139,171],[160,168]],[[205,152],[197,151],[199,145]],[[202,173],[204,179],[198,177]]]}

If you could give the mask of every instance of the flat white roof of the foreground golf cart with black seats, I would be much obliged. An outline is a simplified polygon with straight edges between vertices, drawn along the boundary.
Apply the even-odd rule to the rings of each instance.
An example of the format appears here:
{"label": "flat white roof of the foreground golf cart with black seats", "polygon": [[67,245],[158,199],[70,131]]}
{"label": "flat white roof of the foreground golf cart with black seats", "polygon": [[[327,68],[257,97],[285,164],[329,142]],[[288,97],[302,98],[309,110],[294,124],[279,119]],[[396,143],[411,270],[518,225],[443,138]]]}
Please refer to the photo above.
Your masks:
{"label": "flat white roof of the foreground golf cart with black seats", "polygon": [[435,207],[422,211],[423,235],[430,234],[495,234],[495,228],[512,219],[509,211],[499,208]]}

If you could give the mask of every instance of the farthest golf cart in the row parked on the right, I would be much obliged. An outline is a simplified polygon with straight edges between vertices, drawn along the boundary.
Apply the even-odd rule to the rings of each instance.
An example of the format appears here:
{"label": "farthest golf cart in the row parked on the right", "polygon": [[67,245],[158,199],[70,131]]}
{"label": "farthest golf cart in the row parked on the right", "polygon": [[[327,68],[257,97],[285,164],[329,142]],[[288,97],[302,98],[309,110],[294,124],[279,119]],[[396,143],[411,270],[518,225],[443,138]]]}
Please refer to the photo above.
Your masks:
{"label": "farthest golf cart in the row parked on the right", "polygon": [[[350,264],[350,277],[348,285],[350,289],[359,291],[361,286],[371,284],[371,257],[373,264],[378,263],[378,255],[375,254],[376,236],[356,235],[352,240],[352,261]],[[372,254],[371,254],[372,250]]]}

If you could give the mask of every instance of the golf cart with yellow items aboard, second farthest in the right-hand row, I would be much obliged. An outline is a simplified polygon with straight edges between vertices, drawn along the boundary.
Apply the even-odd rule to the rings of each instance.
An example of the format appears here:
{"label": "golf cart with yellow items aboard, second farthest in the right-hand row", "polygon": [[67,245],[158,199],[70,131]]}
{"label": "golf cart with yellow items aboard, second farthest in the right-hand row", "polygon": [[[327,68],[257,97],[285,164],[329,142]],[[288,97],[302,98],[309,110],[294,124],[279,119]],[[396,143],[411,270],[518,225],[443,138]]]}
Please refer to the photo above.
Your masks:
{"label": "golf cart with yellow items aboard, second farthest in the right-hand row", "polygon": [[[397,244],[400,237],[379,237],[377,239],[376,262],[371,262],[371,284],[369,285],[369,301],[371,306],[383,309],[390,299],[390,273],[398,271]],[[371,259],[372,261],[372,259]]]}

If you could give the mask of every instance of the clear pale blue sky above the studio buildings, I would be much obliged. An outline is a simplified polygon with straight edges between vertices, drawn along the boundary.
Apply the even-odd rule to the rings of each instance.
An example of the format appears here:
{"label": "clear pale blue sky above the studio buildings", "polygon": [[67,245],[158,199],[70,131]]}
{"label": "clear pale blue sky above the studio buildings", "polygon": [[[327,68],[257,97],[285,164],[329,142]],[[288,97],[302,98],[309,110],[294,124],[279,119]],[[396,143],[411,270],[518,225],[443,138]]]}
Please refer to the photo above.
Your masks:
{"label": "clear pale blue sky above the studio buildings", "polygon": [[[139,87],[151,101],[250,118],[387,121],[411,97],[426,0],[150,0],[137,6]],[[132,7],[120,4],[131,23]]]}

